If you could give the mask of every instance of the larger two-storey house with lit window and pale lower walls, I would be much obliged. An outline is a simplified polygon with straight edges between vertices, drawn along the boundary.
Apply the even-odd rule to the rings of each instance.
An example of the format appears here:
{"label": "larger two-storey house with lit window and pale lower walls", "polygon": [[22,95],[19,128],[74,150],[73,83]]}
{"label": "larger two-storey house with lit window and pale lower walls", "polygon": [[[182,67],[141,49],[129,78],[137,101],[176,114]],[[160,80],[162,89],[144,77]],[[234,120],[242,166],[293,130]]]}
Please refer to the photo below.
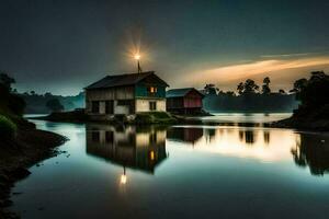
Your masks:
{"label": "larger two-storey house with lit window and pale lower walls", "polygon": [[166,111],[166,88],[154,71],[106,76],[86,90],[86,112],[93,119],[112,115]]}

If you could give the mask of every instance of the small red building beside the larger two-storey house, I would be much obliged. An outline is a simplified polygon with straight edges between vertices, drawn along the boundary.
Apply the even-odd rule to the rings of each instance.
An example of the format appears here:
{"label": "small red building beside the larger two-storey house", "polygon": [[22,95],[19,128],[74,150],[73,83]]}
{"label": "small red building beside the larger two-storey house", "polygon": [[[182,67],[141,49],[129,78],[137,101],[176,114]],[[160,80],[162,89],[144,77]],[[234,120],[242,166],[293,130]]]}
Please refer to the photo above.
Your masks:
{"label": "small red building beside the larger two-storey house", "polygon": [[194,88],[167,91],[167,111],[177,114],[198,114],[204,95]]}

